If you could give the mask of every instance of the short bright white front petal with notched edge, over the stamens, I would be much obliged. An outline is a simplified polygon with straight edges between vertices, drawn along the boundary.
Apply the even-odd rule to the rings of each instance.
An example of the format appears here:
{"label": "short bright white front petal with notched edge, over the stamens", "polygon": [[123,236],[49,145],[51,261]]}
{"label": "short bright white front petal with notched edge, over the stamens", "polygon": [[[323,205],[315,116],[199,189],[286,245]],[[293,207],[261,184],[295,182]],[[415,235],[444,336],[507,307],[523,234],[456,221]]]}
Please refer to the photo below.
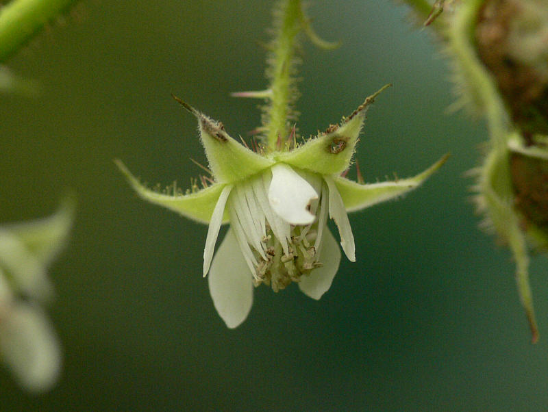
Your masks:
{"label": "short bright white front petal with notched edge, over the stamens", "polygon": [[275,164],[271,170],[269,202],[272,209],[290,224],[305,226],[314,222],[315,216],[308,207],[318,194],[310,183],[286,164]]}

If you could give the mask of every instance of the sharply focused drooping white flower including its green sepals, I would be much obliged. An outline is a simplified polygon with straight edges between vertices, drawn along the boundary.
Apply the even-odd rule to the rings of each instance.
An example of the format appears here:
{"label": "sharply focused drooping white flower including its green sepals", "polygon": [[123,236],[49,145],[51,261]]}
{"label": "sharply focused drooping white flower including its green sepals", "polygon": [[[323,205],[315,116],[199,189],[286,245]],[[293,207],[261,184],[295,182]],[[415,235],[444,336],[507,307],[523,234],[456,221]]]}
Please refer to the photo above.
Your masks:
{"label": "sharply focused drooping white flower including its green sepals", "polygon": [[[340,245],[356,261],[354,237],[347,211],[396,198],[419,186],[447,156],[419,175],[382,183],[364,184],[341,174],[350,166],[369,96],[340,125],[303,144],[294,131],[270,153],[252,151],[236,142],[223,125],[184,102],[199,123],[213,179],[201,179],[203,188],[187,194],[149,190],[120,161],[116,161],[134,190],[145,200],[179,214],[209,222],[203,253],[203,275],[209,273],[214,305],[229,328],[238,326],[251,309],[253,285],[265,283],[277,292],[297,282],[303,293],[319,299],[327,292],[340,261],[340,251],[327,229],[327,216],[338,227]],[[214,247],[221,224],[231,227]]]}

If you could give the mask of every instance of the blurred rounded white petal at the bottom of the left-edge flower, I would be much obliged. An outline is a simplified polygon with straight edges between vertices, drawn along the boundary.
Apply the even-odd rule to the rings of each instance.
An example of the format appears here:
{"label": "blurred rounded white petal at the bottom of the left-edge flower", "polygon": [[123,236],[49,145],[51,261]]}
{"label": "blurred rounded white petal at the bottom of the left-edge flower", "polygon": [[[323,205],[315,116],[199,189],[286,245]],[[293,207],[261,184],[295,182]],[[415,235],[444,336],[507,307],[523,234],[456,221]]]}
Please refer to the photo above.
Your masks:
{"label": "blurred rounded white petal at the bottom of the left-edge flower", "polygon": [[0,352],[29,391],[50,389],[58,379],[61,353],[49,320],[38,307],[16,303],[0,324]]}

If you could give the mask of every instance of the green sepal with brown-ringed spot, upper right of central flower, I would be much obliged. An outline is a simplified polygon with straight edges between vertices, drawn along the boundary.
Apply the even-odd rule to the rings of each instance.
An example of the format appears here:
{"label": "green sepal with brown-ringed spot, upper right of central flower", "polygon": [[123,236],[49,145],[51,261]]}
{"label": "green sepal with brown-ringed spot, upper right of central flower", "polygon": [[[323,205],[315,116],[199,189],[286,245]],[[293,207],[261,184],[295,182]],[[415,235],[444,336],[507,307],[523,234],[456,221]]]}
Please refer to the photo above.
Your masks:
{"label": "green sepal with brown-ringed spot, upper right of central flower", "polygon": [[297,168],[321,173],[338,175],[349,168],[358,136],[365,120],[367,107],[375,97],[390,85],[365,99],[364,103],[343,119],[340,125],[330,126],[325,133],[308,140],[305,144],[290,152],[275,153],[274,159]]}

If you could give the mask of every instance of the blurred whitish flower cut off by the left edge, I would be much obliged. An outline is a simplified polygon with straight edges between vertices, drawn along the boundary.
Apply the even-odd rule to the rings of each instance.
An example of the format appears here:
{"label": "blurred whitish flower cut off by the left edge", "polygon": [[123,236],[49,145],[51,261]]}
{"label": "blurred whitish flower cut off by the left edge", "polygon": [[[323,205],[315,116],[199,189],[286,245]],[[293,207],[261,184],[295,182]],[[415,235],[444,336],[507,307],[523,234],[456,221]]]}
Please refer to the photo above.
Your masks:
{"label": "blurred whitish flower cut off by the left edge", "polygon": [[60,344],[40,305],[53,295],[46,267],[72,216],[67,200],[49,218],[0,227],[0,359],[29,391],[50,389],[60,373]]}

